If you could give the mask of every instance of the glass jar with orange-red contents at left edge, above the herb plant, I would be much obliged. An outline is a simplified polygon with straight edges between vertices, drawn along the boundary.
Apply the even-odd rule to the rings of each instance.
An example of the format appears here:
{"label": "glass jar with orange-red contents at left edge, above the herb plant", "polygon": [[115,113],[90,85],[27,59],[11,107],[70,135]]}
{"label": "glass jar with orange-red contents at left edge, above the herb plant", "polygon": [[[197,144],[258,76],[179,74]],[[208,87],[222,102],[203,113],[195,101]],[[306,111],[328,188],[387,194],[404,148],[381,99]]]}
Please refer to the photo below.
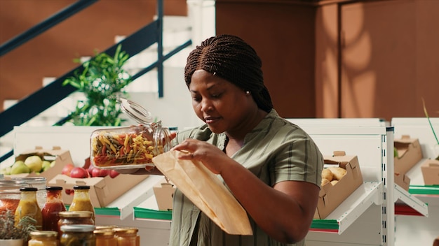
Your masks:
{"label": "glass jar with orange-red contents at left edge, above the herb plant", "polygon": [[0,213],[11,210],[15,214],[15,209],[20,203],[20,188],[22,184],[15,180],[0,180]]}

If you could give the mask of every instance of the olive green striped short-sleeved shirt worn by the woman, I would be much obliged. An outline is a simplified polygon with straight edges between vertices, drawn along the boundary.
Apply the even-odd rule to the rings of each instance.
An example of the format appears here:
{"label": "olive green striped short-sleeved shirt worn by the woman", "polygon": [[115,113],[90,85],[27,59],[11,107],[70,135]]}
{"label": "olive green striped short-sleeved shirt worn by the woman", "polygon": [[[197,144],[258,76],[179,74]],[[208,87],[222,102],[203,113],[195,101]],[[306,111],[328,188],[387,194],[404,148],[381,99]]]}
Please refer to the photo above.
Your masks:
{"label": "olive green striped short-sleeved shirt worn by the woman", "polygon": [[[226,143],[225,133],[212,133],[207,125],[180,131],[175,143],[181,143],[186,138],[204,140],[221,150],[224,150]],[[285,180],[306,181],[320,187],[323,155],[307,133],[279,117],[276,110],[271,110],[245,136],[243,147],[232,158],[271,187]],[[249,219],[252,236],[229,235],[177,189],[174,194],[169,245],[285,245],[269,238],[251,217]],[[293,245],[304,245],[304,240]]]}

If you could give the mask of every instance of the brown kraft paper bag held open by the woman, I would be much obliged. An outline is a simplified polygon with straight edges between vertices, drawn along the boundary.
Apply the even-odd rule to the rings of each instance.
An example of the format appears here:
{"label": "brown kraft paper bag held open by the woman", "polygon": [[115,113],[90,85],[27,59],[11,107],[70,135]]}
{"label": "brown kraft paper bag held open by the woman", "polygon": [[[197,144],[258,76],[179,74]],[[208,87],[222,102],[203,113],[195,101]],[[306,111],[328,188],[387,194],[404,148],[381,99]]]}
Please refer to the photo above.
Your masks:
{"label": "brown kraft paper bag held open by the woman", "polygon": [[171,150],[154,157],[158,170],[166,175],[217,226],[229,234],[252,235],[247,212],[229,189],[199,161],[178,159]]}

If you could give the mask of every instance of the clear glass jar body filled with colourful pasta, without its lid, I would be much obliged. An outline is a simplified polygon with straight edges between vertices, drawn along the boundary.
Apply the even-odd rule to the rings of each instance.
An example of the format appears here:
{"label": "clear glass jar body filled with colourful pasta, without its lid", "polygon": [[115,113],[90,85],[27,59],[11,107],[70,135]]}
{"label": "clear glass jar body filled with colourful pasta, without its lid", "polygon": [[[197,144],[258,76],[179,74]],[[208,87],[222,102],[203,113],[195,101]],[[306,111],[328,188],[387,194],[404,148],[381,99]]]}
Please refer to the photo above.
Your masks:
{"label": "clear glass jar body filled with colourful pasta, without its lid", "polygon": [[97,131],[92,134],[91,148],[90,159],[98,168],[140,164],[154,166],[152,158],[163,152],[162,146],[156,149],[151,134],[146,131]]}

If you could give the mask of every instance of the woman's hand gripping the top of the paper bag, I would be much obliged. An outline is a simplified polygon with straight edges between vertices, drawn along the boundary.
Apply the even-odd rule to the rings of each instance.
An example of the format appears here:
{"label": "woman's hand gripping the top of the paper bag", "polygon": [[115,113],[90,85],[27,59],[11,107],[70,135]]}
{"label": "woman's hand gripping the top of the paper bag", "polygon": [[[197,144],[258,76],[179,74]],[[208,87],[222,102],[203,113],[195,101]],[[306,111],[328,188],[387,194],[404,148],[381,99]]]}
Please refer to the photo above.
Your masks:
{"label": "woman's hand gripping the top of the paper bag", "polygon": [[224,168],[224,159],[230,159],[217,146],[205,141],[186,139],[172,150],[179,150],[179,159],[201,161],[212,173],[221,174]]}

